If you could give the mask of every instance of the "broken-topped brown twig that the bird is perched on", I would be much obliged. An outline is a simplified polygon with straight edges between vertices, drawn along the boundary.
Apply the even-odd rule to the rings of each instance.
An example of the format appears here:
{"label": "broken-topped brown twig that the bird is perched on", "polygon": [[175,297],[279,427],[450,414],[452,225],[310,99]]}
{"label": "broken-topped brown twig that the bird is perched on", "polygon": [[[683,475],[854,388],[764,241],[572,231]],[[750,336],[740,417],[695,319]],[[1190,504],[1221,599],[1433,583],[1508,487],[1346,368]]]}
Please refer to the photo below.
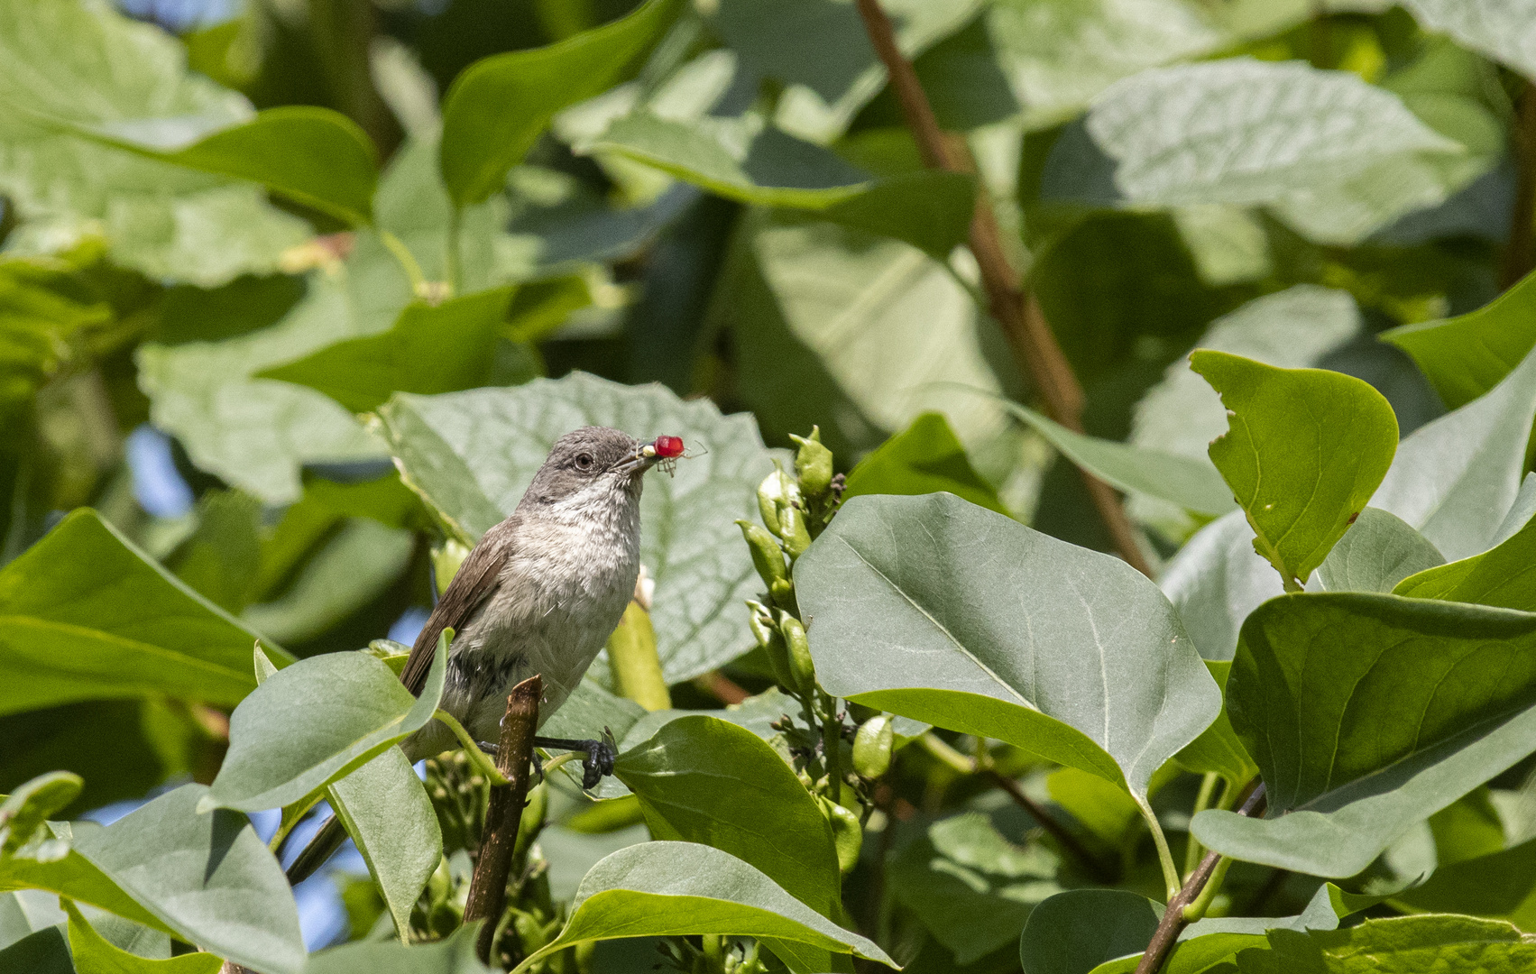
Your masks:
{"label": "broken-topped brown twig that the bird is perched on", "polygon": [[507,696],[507,716],[501,721],[496,742],[496,768],[507,776],[507,785],[492,788],[485,811],[485,834],[481,839],[475,876],[470,879],[464,903],[464,922],[485,920],[475,943],[481,963],[490,963],[490,946],[496,923],[507,908],[507,876],[518,848],[518,825],[528,797],[528,765],[533,759],[533,731],[539,724],[539,697],[544,681],[530,676]]}

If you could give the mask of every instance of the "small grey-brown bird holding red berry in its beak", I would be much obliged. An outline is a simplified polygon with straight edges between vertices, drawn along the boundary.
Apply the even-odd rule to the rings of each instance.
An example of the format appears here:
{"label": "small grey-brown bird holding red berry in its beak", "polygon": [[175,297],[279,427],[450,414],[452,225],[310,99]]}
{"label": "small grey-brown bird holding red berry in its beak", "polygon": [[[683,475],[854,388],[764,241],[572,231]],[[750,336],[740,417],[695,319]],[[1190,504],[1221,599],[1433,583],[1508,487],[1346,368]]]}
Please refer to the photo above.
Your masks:
{"label": "small grey-brown bird holding red berry in its beak", "polygon": [[[602,426],[561,436],[518,509],[485,532],[432,610],[401,673],[406,688],[421,693],[438,636],[453,627],[442,708],[476,740],[495,742],[507,693],[538,673],[542,725],[619,625],[641,570],[644,475],[680,452],[676,436],[647,444]],[[588,788],[613,770],[608,742],[535,744],[585,751]],[[456,739],[432,721],[401,747],[415,762],[456,747]],[[326,822],[289,866],[289,882],[319,868],[344,839],[338,820]]]}

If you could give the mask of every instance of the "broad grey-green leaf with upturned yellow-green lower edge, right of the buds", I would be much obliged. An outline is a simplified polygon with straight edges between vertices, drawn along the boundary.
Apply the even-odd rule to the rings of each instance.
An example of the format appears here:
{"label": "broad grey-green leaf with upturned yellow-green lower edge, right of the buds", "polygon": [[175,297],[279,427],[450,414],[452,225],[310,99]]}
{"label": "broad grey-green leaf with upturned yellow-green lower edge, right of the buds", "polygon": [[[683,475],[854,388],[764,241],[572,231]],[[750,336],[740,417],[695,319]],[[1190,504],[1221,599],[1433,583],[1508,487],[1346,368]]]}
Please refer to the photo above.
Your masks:
{"label": "broad grey-green leaf with upturned yellow-green lower edge, right of the buds", "polygon": [[1138,802],[1221,708],[1143,575],[952,495],[854,498],[796,562],[796,591],[833,696],[1008,740]]}

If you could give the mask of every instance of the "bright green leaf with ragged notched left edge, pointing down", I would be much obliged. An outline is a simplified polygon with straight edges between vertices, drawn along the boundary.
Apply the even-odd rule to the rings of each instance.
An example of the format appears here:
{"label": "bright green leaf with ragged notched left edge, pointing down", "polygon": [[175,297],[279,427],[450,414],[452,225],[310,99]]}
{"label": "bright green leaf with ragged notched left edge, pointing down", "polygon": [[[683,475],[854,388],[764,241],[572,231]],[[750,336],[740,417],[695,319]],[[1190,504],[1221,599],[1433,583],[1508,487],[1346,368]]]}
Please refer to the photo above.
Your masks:
{"label": "bright green leaf with ragged notched left edge, pointing down", "polygon": [[1253,548],[1299,587],[1385,476],[1398,418],[1370,384],[1339,372],[1206,349],[1189,363],[1232,413],[1210,459],[1258,535]]}

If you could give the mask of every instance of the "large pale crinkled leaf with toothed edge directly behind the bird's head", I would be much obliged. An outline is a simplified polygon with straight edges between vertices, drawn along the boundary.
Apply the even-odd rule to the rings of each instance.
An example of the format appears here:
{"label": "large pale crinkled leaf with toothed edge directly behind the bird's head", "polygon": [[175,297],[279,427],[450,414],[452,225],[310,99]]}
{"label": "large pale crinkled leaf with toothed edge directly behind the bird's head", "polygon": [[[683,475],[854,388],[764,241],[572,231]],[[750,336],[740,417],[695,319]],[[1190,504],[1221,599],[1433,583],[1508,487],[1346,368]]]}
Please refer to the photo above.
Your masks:
{"label": "large pale crinkled leaf with toothed edge directly behind the bird's head", "polygon": [[[398,395],[379,409],[406,481],[464,541],[511,513],[550,446],[581,426],[651,439],[680,435],[699,455],[676,476],[653,473],[641,499],[641,562],[656,579],[651,622],[668,682],[699,676],[753,645],[743,599],[759,590],[737,518],[757,518],[757,482],[773,470],[750,416],[722,416],[660,386],[585,373],[515,389]],[[707,452],[705,452],[707,450]],[[593,665],[607,682],[607,658]]]}

